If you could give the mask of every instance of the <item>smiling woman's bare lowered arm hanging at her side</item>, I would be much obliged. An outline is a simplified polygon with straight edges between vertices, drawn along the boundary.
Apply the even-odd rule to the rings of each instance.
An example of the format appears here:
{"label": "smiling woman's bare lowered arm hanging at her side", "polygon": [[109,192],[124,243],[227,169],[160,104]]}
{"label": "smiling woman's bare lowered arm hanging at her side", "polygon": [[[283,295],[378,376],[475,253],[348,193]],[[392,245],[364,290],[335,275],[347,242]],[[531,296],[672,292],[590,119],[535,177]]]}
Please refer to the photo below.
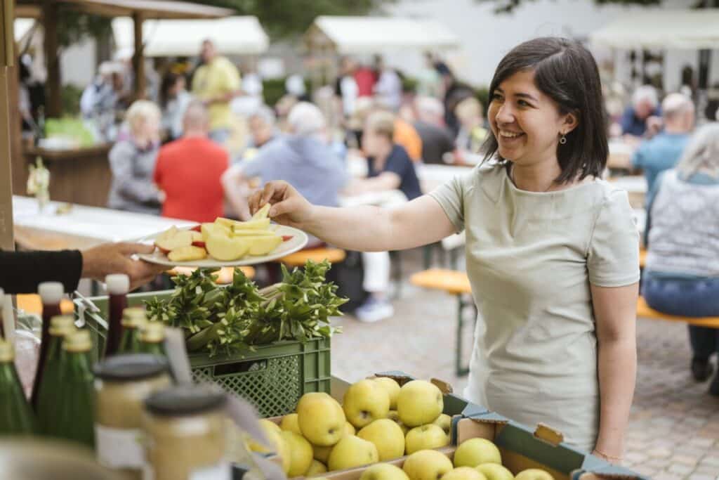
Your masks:
{"label": "smiling woman's bare lowered arm hanging at her side", "polygon": [[617,463],[636,380],[636,299],[638,284],[591,286],[597,321],[600,422],[595,454]]}

